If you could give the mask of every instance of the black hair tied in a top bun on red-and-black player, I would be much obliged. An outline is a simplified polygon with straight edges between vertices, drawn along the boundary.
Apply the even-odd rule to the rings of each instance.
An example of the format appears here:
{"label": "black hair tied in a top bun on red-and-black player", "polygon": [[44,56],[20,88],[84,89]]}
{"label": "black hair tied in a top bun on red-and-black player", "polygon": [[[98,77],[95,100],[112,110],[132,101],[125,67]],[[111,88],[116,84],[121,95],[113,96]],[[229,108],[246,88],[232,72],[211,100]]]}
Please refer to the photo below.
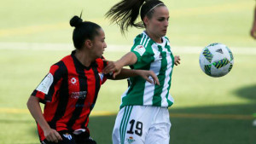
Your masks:
{"label": "black hair tied in a top bun on red-and-black player", "polygon": [[96,35],[99,35],[97,30],[101,28],[96,23],[83,21],[77,15],[73,16],[69,24],[75,27],[73,30],[73,45],[76,49],[82,49],[86,39],[93,40]]}

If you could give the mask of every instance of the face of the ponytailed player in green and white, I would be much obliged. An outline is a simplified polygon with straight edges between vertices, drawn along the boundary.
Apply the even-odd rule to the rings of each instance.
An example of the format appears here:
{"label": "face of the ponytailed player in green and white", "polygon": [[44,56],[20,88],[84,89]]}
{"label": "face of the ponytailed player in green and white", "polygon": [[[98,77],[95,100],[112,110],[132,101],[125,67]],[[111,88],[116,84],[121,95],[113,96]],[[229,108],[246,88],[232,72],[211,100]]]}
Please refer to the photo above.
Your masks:
{"label": "face of the ponytailed player in green and white", "polygon": [[169,25],[169,10],[166,6],[156,7],[152,18],[146,23],[146,31],[154,34],[155,37],[166,36]]}

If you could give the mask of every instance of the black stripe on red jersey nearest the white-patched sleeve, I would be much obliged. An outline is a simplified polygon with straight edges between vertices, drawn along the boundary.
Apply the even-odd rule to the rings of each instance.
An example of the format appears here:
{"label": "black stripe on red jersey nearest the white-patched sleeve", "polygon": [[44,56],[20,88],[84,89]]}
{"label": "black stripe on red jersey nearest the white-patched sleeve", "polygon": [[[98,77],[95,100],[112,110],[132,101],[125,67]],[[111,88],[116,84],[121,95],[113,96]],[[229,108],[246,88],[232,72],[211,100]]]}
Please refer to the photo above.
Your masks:
{"label": "black stripe on red jersey nearest the white-patched sleeve", "polygon": [[62,83],[60,88],[60,98],[59,103],[55,111],[55,116],[49,122],[49,125],[52,129],[56,129],[56,121],[64,116],[66,112],[67,102],[68,102],[68,78],[67,78],[67,66],[65,66],[63,61],[58,62],[56,65],[60,66],[60,69],[63,73]]}

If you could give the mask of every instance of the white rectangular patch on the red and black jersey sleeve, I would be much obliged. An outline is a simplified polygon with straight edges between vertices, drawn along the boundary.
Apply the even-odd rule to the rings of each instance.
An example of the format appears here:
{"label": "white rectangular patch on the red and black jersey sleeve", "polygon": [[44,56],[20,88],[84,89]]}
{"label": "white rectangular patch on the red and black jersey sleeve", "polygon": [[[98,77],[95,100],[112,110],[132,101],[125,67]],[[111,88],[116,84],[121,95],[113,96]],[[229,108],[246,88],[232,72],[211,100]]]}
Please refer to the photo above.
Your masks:
{"label": "white rectangular patch on the red and black jersey sleeve", "polygon": [[49,87],[53,83],[54,78],[51,73],[48,73],[48,75],[43,79],[43,81],[38,85],[37,90],[43,92],[44,94],[48,94]]}

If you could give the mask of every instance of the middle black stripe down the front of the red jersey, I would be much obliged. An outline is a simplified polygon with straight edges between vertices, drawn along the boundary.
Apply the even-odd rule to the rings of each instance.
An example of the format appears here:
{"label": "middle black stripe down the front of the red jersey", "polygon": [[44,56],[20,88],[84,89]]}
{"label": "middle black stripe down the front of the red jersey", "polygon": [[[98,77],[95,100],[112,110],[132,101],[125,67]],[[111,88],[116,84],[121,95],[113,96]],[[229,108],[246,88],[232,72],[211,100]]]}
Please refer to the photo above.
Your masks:
{"label": "middle black stripe down the front of the red jersey", "polygon": [[[77,61],[75,58],[73,58],[73,63],[76,68],[76,72],[79,74],[79,91],[88,92],[88,84],[87,84],[87,78],[85,77],[85,73],[84,73],[84,66],[81,66],[79,61]],[[79,118],[79,116],[83,110],[83,107],[80,107],[80,106],[84,106],[85,99],[86,99],[86,96],[84,99],[79,99],[77,101],[75,106],[79,106],[79,107],[75,107],[72,117],[67,122],[68,130],[72,130],[73,124]],[[84,106],[84,107],[86,107],[86,106]]]}

